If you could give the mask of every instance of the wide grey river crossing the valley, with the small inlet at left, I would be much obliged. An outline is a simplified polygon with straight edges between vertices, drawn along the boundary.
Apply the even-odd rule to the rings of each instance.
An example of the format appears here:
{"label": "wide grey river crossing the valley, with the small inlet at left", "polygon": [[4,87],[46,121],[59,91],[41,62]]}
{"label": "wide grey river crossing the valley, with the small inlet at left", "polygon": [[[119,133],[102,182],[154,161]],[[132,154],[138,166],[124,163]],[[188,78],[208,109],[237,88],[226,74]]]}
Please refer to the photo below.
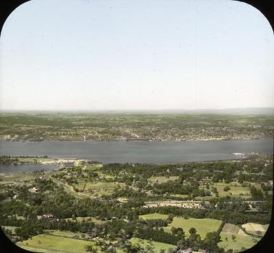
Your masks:
{"label": "wide grey river crossing the valley, with the small inlet at left", "polygon": [[[0,142],[0,155],[77,158],[102,163],[186,163],[234,159],[232,153],[273,154],[273,139],[187,142]],[[12,165],[16,170],[29,165]],[[46,166],[46,167],[45,167]],[[47,165],[32,165],[32,170]],[[29,167],[30,168],[30,167]],[[0,172],[6,170],[0,165]],[[21,169],[20,169],[21,170]]]}

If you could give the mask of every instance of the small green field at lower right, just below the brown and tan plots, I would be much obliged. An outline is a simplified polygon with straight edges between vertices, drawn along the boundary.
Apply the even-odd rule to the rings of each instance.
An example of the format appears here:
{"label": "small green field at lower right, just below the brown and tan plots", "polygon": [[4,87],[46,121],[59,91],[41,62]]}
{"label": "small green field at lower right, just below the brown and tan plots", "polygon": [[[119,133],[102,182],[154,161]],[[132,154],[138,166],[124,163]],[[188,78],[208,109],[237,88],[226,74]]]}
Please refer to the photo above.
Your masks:
{"label": "small green field at lower right, just below the brown and tan plots", "polygon": [[[227,235],[225,232],[221,232],[221,240],[218,245],[219,247],[225,248],[225,250],[232,249],[232,250],[240,250],[241,248],[249,249],[256,245],[252,239],[254,237],[245,236],[245,235],[235,235],[235,241],[232,240],[232,235]],[[227,240],[225,239],[227,238]]]}

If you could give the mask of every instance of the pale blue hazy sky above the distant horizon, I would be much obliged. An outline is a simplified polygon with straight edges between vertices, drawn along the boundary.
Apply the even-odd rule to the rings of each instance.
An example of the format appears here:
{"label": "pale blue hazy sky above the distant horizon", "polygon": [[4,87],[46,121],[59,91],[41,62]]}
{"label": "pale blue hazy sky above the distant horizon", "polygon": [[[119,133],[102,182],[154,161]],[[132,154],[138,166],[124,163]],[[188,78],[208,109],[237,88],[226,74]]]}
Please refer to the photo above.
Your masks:
{"label": "pale blue hazy sky above the distant horizon", "polygon": [[1,110],[274,107],[274,36],[238,1],[32,0],[0,38]]}

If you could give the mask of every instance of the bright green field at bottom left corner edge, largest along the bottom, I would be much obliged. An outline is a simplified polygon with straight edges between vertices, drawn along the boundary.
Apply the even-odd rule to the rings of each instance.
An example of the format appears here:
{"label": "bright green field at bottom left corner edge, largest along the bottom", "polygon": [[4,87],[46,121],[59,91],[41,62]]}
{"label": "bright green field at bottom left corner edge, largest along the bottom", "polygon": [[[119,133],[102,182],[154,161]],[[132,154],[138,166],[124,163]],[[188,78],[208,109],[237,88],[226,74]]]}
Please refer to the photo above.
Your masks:
{"label": "bright green field at bottom left corner edge, largest along the bottom", "polygon": [[85,245],[90,245],[90,241],[56,237],[54,235],[36,235],[27,241],[16,243],[25,250],[34,252],[62,252],[62,253],[86,253]]}

